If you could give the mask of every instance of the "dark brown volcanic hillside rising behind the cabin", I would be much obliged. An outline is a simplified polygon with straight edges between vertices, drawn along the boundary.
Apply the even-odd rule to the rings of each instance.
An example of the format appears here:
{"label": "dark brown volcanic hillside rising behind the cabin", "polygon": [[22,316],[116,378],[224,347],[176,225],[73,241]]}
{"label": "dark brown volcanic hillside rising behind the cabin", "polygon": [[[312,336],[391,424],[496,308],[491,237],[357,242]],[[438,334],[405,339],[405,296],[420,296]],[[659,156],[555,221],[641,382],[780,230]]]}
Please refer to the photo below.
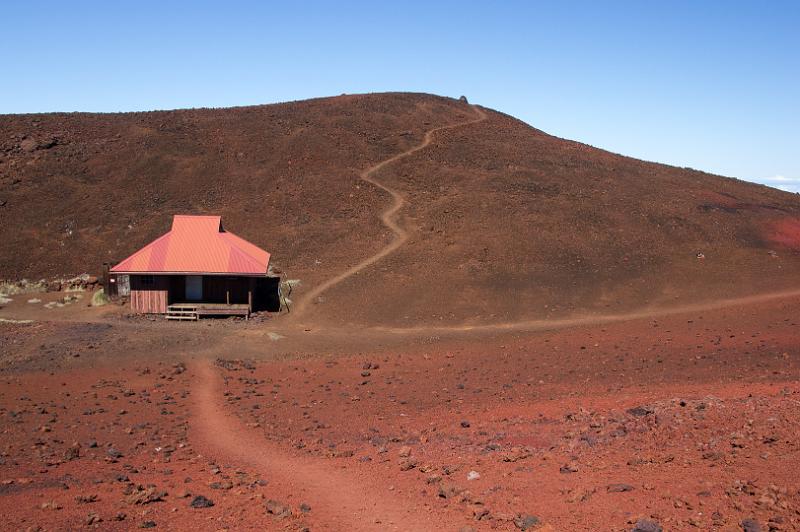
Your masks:
{"label": "dark brown volcanic hillside rising behind the cabin", "polygon": [[0,116],[0,278],[98,272],[176,213],[219,214],[269,250],[300,281],[298,320],[628,312],[787,289],[800,273],[800,196],[449,98]]}

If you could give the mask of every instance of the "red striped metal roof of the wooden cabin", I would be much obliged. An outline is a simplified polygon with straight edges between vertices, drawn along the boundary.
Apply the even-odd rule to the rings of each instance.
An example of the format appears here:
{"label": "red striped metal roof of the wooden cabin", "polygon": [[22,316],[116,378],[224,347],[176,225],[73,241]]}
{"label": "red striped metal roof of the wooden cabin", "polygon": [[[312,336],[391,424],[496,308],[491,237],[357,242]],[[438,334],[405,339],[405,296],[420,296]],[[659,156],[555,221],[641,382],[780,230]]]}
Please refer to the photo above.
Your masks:
{"label": "red striped metal roof of the wooden cabin", "polygon": [[268,266],[269,253],[225,231],[219,216],[175,215],[170,232],[111,271],[264,275]]}

